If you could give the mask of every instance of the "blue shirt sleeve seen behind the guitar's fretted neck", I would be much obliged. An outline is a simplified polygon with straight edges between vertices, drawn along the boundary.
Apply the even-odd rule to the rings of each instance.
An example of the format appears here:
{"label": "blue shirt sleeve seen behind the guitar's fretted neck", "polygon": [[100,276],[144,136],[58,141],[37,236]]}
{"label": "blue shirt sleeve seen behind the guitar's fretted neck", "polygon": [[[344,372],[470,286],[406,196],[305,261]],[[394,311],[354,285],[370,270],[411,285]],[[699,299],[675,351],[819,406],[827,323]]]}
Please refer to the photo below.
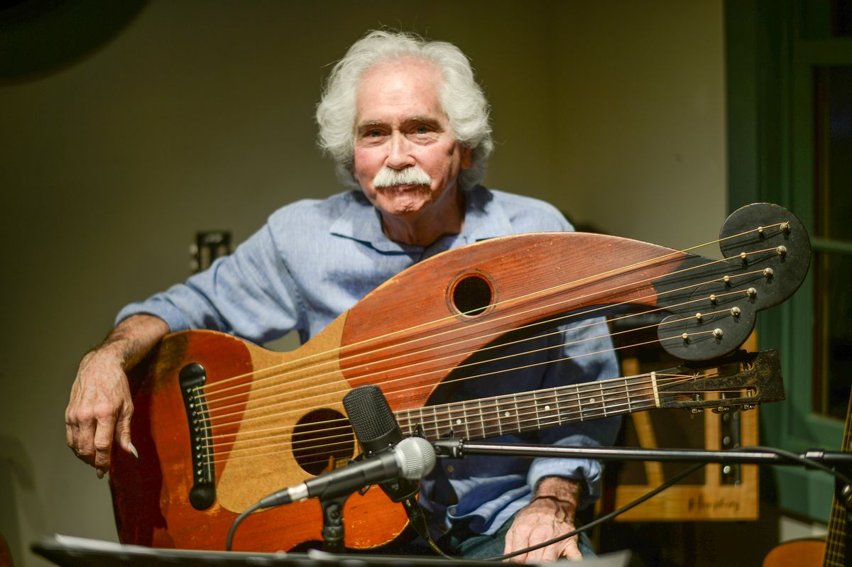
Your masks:
{"label": "blue shirt sleeve seen behind the guitar's fretted neck", "polygon": [[[563,343],[561,348],[552,349],[552,364],[546,366],[544,388],[561,387],[590,381],[606,380],[619,375],[619,367],[613,353],[613,344],[602,318],[585,319],[563,327],[564,334],[554,335],[553,340]],[[570,408],[566,413],[580,417],[579,409]],[[602,415],[602,410],[596,410]],[[575,421],[562,427],[544,429],[538,433],[540,443],[583,447],[611,445],[619,432],[619,416],[601,417]],[[573,478],[584,484],[579,507],[585,507],[601,494],[602,466],[590,459],[538,458],[533,460],[527,472],[527,483],[531,490],[544,477]]]}

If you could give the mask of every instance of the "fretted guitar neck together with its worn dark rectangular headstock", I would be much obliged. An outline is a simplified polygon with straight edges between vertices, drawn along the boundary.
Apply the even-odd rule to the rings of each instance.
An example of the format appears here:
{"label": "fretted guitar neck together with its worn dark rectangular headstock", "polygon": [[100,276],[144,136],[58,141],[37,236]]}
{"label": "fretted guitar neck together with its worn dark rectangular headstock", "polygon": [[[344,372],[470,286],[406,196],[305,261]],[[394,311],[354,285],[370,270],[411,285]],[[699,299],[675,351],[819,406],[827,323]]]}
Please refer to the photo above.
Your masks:
{"label": "fretted guitar neck together with its worn dark rectangular headstock", "polygon": [[406,434],[481,439],[653,408],[751,409],[784,399],[778,352],[395,412]]}

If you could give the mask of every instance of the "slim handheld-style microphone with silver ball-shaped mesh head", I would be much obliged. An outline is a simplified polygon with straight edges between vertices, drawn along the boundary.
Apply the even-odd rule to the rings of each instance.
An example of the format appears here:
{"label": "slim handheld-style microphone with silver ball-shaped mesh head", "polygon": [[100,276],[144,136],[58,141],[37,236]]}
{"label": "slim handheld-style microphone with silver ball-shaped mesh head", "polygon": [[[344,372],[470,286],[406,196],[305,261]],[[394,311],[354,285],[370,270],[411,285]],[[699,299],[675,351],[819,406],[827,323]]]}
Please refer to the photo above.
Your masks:
{"label": "slim handheld-style microphone with silver ball-shaped mesh head", "polygon": [[376,458],[351,463],[268,495],[256,507],[280,506],[310,497],[335,498],[393,478],[422,478],[432,467],[435,467],[432,444],[423,438],[406,438]]}

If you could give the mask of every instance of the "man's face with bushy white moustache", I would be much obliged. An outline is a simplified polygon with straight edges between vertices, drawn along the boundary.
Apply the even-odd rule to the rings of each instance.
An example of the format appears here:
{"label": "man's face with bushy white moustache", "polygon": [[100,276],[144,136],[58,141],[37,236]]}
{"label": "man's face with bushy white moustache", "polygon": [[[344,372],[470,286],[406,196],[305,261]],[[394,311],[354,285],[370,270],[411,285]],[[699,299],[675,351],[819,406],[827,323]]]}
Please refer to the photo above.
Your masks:
{"label": "man's face with bushy white moustache", "polygon": [[[354,177],[384,215],[415,221],[455,206],[456,179],[469,167],[470,150],[455,140],[439,89],[438,69],[421,60],[383,63],[361,77]],[[400,172],[409,175],[394,175]]]}

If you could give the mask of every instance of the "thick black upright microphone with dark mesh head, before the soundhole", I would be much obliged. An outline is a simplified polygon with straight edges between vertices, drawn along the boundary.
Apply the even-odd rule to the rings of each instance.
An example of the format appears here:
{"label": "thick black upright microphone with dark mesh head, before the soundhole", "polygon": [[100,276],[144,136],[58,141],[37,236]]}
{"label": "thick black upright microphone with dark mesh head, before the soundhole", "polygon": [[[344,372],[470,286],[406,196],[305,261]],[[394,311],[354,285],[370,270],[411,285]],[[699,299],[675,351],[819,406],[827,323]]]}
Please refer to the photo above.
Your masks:
{"label": "thick black upright microphone with dark mesh head, before the soundhole", "polygon": [[[394,412],[391,411],[388,400],[384,397],[380,387],[368,384],[350,390],[343,397],[343,407],[349,416],[349,423],[352,424],[355,438],[358,438],[361,449],[366,456],[366,459],[362,462],[382,458],[394,444],[398,447],[408,439],[420,439],[402,438],[400,424],[396,421]],[[427,444],[429,443],[427,442]],[[429,447],[431,446],[429,444]],[[433,461],[429,466],[429,471],[434,466],[435,462]],[[425,476],[429,471],[421,476]],[[426,541],[430,541],[429,528],[426,525],[426,518],[423,516],[423,509],[417,504],[416,496],[420,490],[420,484],[412,477],[404,477],[392,478],[379,484],[379,486],[392,501],[402,502],[408,520],[414,530],[417,531],[417,535],[423,537]]]}

